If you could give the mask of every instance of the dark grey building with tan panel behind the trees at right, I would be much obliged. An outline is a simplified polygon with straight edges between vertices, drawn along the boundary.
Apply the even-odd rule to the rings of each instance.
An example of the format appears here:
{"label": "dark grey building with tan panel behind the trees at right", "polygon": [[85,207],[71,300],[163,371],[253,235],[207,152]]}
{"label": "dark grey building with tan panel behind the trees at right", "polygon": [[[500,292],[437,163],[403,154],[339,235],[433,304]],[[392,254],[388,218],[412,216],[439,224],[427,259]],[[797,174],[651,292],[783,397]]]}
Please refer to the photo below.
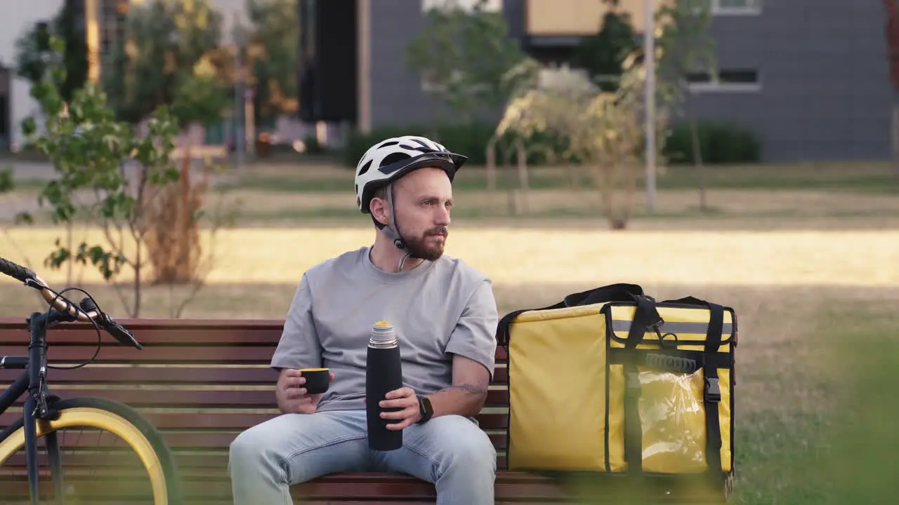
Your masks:
{"label": "dark grey building with tan panel behind the trees at right", "polygon": [[[432,119],[436,105],[421,77],[405,66],[405,48],[423,28],[423,6],[434,1],[356,0],[351,122],[357,128]],[[766,161],[888,158],[893,93],[882,4],[708,1],[720,72],[694,84],[700,119],[732,120],[752,129],[761,137]],[[621,3],[642,31],[643,0]],[[556,61],[564,60],[581,36],[597,30],[601,15],[590,11],[599,0],[494,4],[502,6],[522,49]],[[584,24],[590,15],[594,18]],[[554,32],[547,19],[563,28]]]}

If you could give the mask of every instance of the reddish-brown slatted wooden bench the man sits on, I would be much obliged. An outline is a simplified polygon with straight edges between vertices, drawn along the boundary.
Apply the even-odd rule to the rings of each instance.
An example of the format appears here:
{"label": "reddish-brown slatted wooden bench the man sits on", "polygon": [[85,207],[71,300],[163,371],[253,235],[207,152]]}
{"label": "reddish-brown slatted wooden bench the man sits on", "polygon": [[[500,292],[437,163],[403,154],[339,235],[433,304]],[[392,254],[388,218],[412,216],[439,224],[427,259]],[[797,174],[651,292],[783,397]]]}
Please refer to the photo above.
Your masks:
{"label": "reddish-brown slatted wooden bench the man sits on", "polygon": [[[63,398],[101,396],[138,408],[164,433],[173,448],[186,498],[190,503],[231,503],[227,448],[246,428],[278,415],[268,367],[281,333],[280,321],[127,320],[143,350],[121,346],[103,333],[103,347],[92,365],[73,370],[50,369],[49,386]],[[51,363],[74,364],[96,349],[93,326],[68,324],[49,331]],[[0,356],[24,355],[28,333],[22,318],[0,319]],[[507,412],[506,356],[496,350],[497,367],[484,410],[477,416],[497,450],[496,502],[552,502],[572,498],[565,484],[547,476],[503,471]],[[21,370],[0,369],[0,385],[9,385]],[[0,416],[0,427],[20,415]],[[564,422],[564,420],[560,420]],[[67,471],[68,471],[68,467]],[[27,501],[24,457],[13,456],[0,466],[0,496],[4,503]],[[98,478],[108,478],[102,477]],[[608,478],[591,489],[592,501],[619,496],[626,480]],[[49,488],[45,488],[49,489]],[[708,492],[678,492],[655,486],[657,502],[721,502]],[[401,474],[333,474],[293,486],[302,502],[433,502],[431,483]],[[120,501],[120,499],[116,499]],[[93,501],[102,503],[100,497]]]}

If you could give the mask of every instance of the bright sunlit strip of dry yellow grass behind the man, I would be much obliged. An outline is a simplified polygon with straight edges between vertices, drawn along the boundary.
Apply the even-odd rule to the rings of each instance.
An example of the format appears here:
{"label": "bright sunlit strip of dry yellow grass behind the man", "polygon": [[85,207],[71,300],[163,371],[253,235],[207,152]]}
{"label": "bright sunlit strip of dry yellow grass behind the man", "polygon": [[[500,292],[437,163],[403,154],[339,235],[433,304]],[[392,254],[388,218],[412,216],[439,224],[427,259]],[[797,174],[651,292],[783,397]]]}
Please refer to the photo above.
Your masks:
{"label": "bright sunlit strip of dry yellow grass behind the man", "polygon": [[[297,282],[319,261],[373,239],[371,227],[238,228],[219,232],[212,284]],[[38,270],[54,283],[65,270],[40,267],[61,234],[18,228],[6,237],[4,257]],[[76,230],[75,243],[102,240]],[[899,230],[629,231],[459,228],[447,253],[484,271],[499,285],[609,283],[743,286],[899,285]],[[78,282],[94,282],[93,268],[76,268]],[[123,280],[128,276],[123,275]]]}

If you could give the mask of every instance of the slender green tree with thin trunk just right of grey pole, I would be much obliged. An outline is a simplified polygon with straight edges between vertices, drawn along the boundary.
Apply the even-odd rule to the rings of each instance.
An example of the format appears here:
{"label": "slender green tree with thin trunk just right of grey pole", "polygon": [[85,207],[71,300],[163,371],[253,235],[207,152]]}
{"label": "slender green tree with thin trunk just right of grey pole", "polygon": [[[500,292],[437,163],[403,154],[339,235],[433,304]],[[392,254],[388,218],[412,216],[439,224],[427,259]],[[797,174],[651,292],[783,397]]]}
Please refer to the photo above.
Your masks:
{"label": "slender green tree with thin trunk just right of grey pole", "polygon": [[660,95],[675,111],[680,111],[690,125],[693,163],[699,171],[699,208],[705,211],[706,166],[696,120],[689,75],[717,75],[715,40],[708,32],[711,9],[708,0],[676,0],[662,4],[656,13],[662,27],[657,46],[663,52],[656,74]]}

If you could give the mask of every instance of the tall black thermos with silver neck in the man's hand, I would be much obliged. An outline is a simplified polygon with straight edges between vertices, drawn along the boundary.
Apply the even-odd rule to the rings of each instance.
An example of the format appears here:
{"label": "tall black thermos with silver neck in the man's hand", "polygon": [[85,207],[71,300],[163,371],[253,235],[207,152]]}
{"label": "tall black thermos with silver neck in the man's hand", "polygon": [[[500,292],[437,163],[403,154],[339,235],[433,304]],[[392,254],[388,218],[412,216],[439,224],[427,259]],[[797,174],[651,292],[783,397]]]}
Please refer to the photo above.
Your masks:
{"label": "tall black thermos with silver neck in the man's hand", "polygon": [[403,430],[387,430],[387,424],[399,422],[383,419],[381,412],[402,409],[382,408],[389,391],[403,387],[403,367],[399,356],[394,327],[387,321],[378,321],[371,328],[368,363],[365,368],[366,410],[369,421],[369,447],[378,451],[390,451],[403,447]]}

